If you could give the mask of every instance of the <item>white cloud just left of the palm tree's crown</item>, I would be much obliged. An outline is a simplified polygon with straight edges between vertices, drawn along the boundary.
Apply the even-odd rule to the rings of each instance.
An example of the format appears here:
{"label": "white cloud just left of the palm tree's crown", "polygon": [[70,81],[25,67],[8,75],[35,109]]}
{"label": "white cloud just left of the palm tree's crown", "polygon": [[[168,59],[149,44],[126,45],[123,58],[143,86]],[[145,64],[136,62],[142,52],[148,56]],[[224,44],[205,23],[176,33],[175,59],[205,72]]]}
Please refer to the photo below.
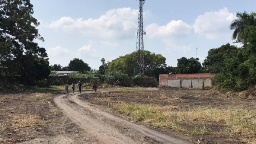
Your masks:
{"label": "white cloud just left of the palm tree's crown", "polygon": [[229,25],[235,18],[235,14],[228,12],[228,8],[223,8],[218,12],[206,12],[196,18],[194,30],[196,34],[204,35],[208,39],[216,39],[232,33]]}

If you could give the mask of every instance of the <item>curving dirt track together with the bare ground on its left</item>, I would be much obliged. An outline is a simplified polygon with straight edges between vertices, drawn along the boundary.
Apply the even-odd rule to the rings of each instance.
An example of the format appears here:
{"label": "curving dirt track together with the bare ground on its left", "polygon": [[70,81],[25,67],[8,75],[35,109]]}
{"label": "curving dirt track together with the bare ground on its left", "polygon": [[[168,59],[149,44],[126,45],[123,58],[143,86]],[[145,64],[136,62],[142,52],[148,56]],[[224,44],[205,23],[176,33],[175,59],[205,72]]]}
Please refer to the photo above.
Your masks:
{"label": "curving dirt track together with the bare ground on its left", "polygon": [[0,144],[191,144],[109,114],[78,95],[0,93]]}

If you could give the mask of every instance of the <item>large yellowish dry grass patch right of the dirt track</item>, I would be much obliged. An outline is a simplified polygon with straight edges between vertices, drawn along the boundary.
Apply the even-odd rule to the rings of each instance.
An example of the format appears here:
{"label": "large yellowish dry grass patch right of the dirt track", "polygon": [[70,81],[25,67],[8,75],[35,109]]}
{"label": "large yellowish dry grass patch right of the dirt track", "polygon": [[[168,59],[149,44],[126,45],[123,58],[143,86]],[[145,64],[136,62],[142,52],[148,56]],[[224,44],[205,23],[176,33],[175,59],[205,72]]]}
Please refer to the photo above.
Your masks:
{"label": "large yellowish dry grass patch right of the dirt track", "polygon": [[[219,134],[240,136],[243,138],[256,138],[256,111],[244,108],[228,108],[220,110],[210,107],[197,107],[189,109],[174,109],[172,106],[161,107],[149,104],[114,105],[114,108],[131,120],[142,122],[157,128],[172,128],[186,134],[207,134],[211,132],[210,123],[223,124]],[[198,126],[198,124],[200,126]]]}

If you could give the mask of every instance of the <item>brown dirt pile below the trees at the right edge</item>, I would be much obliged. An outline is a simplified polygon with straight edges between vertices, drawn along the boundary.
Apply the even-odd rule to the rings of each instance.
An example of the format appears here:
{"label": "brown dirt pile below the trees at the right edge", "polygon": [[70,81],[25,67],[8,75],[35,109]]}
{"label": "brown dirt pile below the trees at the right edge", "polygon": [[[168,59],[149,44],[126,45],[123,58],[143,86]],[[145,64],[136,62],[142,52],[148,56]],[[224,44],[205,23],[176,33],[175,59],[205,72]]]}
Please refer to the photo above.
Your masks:
{"label": "brown dirt pile below the trees at the right edge", "polygon": [[248,100],[256,99],[256,88],[251,88],[242,92],[227,92],[226,97],[236,97]]}

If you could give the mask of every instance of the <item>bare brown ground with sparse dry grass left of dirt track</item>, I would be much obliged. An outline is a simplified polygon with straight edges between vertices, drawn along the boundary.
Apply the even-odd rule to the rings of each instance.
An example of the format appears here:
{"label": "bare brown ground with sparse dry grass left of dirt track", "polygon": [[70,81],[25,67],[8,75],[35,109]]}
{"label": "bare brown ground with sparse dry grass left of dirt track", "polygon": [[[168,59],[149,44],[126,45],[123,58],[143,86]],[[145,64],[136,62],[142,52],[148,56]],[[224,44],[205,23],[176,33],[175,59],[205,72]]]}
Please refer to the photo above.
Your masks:
{"label": "bare brown ground with sparse dry grass left of dirt track", "polygon": [[53,98],[52,93],[34,90],[0,93],[0,144],[36,139],[53,143],[56,136],[79,138],[75,131],[80,128],[59,112]]}

